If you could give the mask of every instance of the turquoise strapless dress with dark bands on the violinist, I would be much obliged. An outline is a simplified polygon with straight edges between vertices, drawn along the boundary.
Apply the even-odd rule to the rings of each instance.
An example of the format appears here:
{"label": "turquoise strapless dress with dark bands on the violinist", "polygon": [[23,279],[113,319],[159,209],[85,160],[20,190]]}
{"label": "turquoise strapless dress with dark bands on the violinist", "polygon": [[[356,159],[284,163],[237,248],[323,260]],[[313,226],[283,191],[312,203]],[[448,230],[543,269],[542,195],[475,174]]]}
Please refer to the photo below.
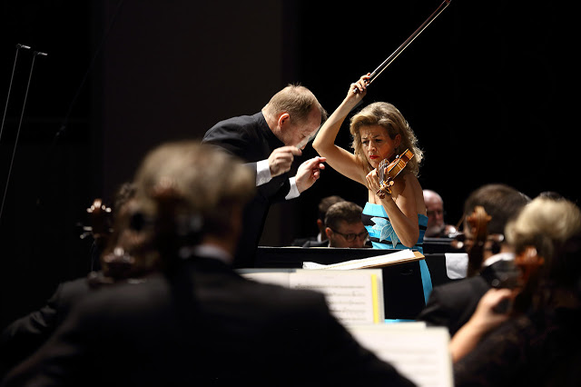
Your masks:
{"label": "turquoise strapless dress with dark bands on the violinist", "polygon": [[[405,246],[399,242],[398,234],[393,230],[391,222],[389,222],[388,213],[385,212],[383,205],[366,203],[361,214],[361,220],[369,233],[369,239],[374,249],[414,249],[418,250],[419,253],[424,253],[422,243],[428,226],[428,216],[418,214],[419,238],[418,242],[413,246]],[[421,283],[424,288],[424,301],[428,303],[429,293],[432,291],[432,279],[429,275],[426,260],[419,261],[419,273],[421,274]]]}

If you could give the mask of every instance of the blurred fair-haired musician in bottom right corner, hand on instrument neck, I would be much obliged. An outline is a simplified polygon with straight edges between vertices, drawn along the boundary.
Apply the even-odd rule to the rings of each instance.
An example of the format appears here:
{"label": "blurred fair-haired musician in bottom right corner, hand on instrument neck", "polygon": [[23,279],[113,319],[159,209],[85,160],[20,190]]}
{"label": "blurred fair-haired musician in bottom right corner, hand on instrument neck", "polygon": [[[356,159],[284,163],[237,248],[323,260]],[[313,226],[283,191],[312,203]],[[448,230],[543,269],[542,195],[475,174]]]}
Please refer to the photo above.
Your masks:
{"label": "blurred fair-haired musician in bottom right corner, hand on instrument neck", "polygon": [[581,211],[565,198],[539,195],[506,234],[517,254],[517,286],[489,290],[453,337],[454,382],[578,386]]}

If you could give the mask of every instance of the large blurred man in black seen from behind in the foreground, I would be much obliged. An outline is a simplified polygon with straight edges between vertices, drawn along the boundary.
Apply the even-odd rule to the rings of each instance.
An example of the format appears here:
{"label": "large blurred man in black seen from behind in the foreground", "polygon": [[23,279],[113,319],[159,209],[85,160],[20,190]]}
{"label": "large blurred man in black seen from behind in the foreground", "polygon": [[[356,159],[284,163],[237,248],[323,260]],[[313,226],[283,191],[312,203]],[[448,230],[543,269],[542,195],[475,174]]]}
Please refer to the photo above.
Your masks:
{"label": "large blurred man in black seen from behind in the foreground", "polygon": [[231,155],[162,144],[135,183],[162,273],[88,295],[5,386],[413,385],[354,340],[322,293],[232,270],[255,182]]}

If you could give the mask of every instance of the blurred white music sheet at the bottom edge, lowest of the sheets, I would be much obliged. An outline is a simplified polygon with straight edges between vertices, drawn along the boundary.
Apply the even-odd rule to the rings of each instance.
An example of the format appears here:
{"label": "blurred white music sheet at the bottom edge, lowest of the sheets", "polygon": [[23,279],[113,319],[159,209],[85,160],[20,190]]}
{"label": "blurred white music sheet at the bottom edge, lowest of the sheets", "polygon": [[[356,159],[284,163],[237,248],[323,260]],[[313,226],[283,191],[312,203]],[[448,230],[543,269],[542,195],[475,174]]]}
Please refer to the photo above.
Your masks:
{"label": "blurred white music sheet at the bottom edge, lowest of the sheets", "polygon": [[364,347],[419,387],[453,387],[448,329],[409,323],[347,325]]}

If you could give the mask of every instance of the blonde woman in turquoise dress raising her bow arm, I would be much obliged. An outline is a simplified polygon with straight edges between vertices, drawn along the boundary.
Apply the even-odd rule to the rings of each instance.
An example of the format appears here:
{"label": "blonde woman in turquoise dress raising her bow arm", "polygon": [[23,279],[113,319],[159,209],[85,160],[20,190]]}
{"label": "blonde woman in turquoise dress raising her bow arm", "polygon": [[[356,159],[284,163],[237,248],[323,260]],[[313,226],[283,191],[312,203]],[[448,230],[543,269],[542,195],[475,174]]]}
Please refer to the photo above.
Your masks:
{"label": "blonde woman in turquoise dress raising her bow arm", "polygon": [[[313,142],[327,163],[351,180],[368,188],[368,203],[363,209],[363,223],[374,248],[414,248],[422,253],[428,217],[422,187],[418,181],[419,163],[423,157],[418,139],[406,119],[392,104],[369,104],[350,121],[354,153],[337,146],[335,139],[350,111],[367,94],[369,74],[350,85],[349,93],[320,128]],[[414,154],[406,167],[394,179],[391,193],[378,196],[377,167],[383,159],[393,160],[407,149]],[[420,261],[424,295],[431,291],[428,267]]]}

